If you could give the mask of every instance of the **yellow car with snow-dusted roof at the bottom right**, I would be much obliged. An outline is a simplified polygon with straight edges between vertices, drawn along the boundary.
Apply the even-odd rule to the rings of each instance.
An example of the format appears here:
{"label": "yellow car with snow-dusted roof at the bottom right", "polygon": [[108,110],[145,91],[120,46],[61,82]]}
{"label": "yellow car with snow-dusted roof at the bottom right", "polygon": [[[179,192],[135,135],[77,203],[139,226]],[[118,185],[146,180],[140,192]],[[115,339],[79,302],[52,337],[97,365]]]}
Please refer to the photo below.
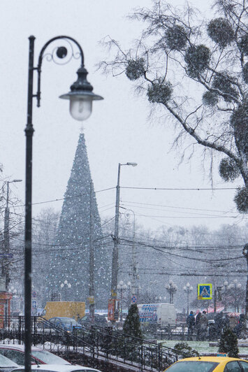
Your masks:
{"label": "yellow car with snow-dusted roof at the bottom right", "polygon": [[248,362],[246,360],[229,357],[193,357],[180,359],[166,369],[168,372],[246,372]]}

